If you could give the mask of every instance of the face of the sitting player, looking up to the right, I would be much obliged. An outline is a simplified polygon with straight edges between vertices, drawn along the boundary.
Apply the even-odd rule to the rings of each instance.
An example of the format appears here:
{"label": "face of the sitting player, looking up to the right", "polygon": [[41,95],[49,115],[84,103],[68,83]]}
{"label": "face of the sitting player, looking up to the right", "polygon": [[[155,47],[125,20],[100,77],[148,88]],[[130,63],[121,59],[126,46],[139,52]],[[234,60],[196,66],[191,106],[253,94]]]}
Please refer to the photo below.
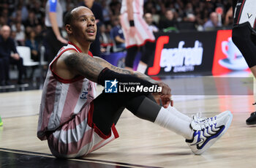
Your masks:
{"label": "face of the sitting player, looking up to the right", "polygon": [[79,8],[75,14],[73,34],[77,38],[94,42],[97,33],[97,24],[94,14],[86,7]]}

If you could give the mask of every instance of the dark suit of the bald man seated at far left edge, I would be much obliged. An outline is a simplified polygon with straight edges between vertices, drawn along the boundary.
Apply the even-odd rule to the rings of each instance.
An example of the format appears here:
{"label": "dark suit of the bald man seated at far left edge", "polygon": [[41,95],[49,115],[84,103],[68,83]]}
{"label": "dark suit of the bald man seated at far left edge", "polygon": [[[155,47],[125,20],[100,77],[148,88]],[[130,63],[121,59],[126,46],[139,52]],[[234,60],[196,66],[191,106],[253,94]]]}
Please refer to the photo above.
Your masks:
{"label": "dark suit of the bald man seated at far left edge", "polygon": [[[23,58],[16,60],[11,57],[11,53],[18,53],[13,39],[8,38],[6,41],[0,36],[0,84],[6,85],[9,76],[9,66],[14,64],[18,66],[18,83],[22,83],[22,75],[24,74]],[[5,81],[5,83],[4,83]]]}

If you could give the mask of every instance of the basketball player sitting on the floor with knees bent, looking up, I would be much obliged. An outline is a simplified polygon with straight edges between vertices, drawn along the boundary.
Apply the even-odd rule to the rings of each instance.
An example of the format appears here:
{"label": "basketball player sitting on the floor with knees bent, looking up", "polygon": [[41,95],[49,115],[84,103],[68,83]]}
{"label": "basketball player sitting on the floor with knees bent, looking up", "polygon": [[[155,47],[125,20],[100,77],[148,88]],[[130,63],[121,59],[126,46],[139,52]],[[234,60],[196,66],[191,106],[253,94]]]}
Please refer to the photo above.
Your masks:
{"label": "basketball player sitting on the floor with knees bent, looking up", "polygon": [[[89,52],[97,26],[89,8],[77,7],[64,18],[69,45],[50,63],[42,91],[37,137],[48,140],[50,151],[60,158],[86,156],[116,139],[115,125],[127,108],[144,120],[175,131],[186,139],[195,154],[216,142],[230,126],[233,115],[222,112],[213,118],[189,118],[170,107],[170,88],[140,72],[112,66]],[[95,98],[96,83],[140,83],[157,87],[156,93],[105,93]],[[159,89],[162,88],[162,89]],[[161,99],[164,107],[158,103]],[[158,102],[158,103],[157,103]]]}

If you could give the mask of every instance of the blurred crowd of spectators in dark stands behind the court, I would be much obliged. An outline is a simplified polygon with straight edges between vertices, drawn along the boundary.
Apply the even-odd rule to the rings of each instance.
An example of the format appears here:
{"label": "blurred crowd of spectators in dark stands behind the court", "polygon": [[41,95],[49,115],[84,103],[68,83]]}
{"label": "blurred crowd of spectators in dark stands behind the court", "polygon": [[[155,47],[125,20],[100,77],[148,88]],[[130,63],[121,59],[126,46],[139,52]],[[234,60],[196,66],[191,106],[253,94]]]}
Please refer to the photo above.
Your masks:
{"label": "blurred crowd of spectators in dark stands behind the court", "polygon": [[[93,0],[85,0],[93,1]],[[37,61],[39,46],[45,36],[45,4],[47,0],[1,0],[0,26],[9,25],[16,45],[31,47],[36,42],[32,54]],[[59,0],[63,15],[83,0]],[[102,7],[99,18],[99,39],[102,52],[113,42],[110,31],[119,26],[121,0],[95,0]],[[217,14],[220,9],[221,14]],[[144,18],[152,31],[208,31],[214,28],[231,28],[233,24],[232,0],[145,0]],[[64,37],[65,32],[63,29]],[[122,43],[119,42],[119,43]],[[122,45],[124,46],[124,45]],[[37,51],[37,52],[36,52]]]}

